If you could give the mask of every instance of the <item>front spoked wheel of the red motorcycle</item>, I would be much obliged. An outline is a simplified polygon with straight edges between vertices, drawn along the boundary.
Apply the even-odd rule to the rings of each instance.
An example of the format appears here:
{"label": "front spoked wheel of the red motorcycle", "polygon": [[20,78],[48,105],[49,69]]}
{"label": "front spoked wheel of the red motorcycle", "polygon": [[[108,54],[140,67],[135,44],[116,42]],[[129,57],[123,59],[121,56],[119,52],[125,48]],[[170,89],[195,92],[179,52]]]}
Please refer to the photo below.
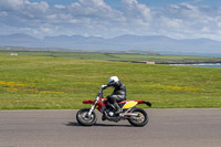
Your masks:
{"label": "front spoked wheel of the red motorcycle", "polygon": [[96,123],[97,117],[94,112],[88,116],[90,108],[80,109],[76,114],[76,120],[83,126],[92,126]]}

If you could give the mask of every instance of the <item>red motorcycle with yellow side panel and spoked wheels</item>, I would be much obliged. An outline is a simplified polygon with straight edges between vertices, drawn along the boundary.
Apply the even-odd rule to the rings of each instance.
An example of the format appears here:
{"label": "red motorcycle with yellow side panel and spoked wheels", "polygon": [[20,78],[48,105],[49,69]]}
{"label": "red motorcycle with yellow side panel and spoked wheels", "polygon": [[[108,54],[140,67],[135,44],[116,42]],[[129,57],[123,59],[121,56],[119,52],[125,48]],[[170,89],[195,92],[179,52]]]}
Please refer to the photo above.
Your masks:
{"label": "red motorcycle with yellow side panel and spoked wheels", "polygon": [[119,102],[118,105],[120,107],[120,113],[115,114],[115,106],[107,102],[103,96],[103,92],[105,88],[101,88],[96,98],[94,101],[83,101],[83,104],[92,104],[91,108],[82,108],[76,114],[76,120],[80,125],[83,126],[92,126],[96,123],[97,117],[95,114],[95,108],[98,109],[103,114],[102,120],[109,122],[119,122],[127,119],[129,124],[137,127],[145,126],[148,120],[148,114],[143,108],[137,108],[138,104],[146,104],[147,106],[151,106],[151,103],[147,101],[124,101]]}

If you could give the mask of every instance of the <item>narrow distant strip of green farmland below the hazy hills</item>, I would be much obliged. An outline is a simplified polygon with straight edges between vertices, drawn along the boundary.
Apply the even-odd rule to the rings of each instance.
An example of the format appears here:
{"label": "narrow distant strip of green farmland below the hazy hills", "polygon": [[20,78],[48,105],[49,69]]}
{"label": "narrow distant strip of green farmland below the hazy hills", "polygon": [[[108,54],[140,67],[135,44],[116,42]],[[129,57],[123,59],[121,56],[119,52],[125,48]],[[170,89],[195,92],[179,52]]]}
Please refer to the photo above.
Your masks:
{"label": "narrow distant strip of green farmland below the hazy hills", "polygon": [[[10,53],[0,51],[0,54]],[[67,57],[78,60],[102,61],[150,61],[156,63],[197,63],[197,62],[221,62],[221,57],[182,56],[182,55],[157,55],[157,54],[120,54],[120,53],[82,53],[82,52],[17,52],[19,55]]]}

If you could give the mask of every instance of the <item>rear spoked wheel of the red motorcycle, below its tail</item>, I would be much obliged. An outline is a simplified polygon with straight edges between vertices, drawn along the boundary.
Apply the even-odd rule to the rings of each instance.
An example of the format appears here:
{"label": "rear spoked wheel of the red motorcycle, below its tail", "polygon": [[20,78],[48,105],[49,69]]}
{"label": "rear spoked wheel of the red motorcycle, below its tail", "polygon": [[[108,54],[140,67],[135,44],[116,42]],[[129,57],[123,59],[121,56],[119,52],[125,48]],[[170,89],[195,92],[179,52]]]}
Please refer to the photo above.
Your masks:
{"label": "rear spoked wheel of the red motorcycle, below its tail", "polygon": [[137,116],[131,116],[128,122],[136,127],[143,127],[149,122],[147,113],[141,108],[135,108],[130,113],[137,114]]}

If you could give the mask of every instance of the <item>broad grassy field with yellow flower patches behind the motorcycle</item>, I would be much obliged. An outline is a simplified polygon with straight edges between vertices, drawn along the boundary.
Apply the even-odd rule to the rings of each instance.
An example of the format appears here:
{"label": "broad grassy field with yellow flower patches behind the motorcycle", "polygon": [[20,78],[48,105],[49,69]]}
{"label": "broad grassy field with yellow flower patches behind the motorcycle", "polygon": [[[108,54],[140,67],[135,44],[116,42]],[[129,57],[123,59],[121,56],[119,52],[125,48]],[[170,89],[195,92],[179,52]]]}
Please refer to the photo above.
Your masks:
{"label": "broad grassy field with yellow flower patches behind the motorcycle", "polygon": [[146,99],[154,108],[221,107],[221,69],[28,54],[0,54],[0,109],[81,108],[112,75],[126,84],[127,99]]}

